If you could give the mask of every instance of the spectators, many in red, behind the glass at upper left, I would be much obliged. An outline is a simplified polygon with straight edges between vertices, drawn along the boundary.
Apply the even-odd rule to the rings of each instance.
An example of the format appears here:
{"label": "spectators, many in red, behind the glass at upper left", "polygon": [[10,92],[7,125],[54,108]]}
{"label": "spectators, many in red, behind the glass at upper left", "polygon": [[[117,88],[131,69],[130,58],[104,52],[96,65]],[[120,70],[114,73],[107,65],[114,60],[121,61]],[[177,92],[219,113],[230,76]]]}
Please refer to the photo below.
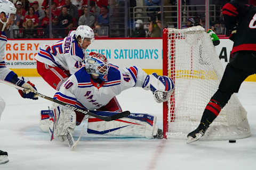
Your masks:
{"label": "spectators, many in red, behind the glass at upper left", "polygon": [[44,35],[49,37],[50,12],[52,20],[52,38],[63,38],[69,30],[76,29],[78,25],[89,25],[91,28],[104,27],[109,24],[108,0],[52,0],[51,9],[49,0],[42,5],[38,1],[18,0],[17,19],[12,29],[14,38],[37,38]]}

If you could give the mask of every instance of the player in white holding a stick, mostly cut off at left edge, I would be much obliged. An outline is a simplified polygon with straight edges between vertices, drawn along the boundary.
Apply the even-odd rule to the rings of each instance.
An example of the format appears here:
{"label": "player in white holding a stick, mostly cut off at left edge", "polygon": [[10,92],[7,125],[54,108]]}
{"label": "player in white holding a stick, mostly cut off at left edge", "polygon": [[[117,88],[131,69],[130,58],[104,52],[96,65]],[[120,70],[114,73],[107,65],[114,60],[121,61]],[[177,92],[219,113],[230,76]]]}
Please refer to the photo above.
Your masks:
{"label": "player in white holding a stick, mostly cut off at left edge", "polygon": [[[15,15],[16,15],[16,8],[13,5],[13,3],[7,0],[0,0],[0,30],[1,30],[1,33],[0,33],[0,79],[9,81],[11,83],[14,83],[20,87],[27,89],[24,91],[19,90],[21,97],[36,100],[38,99],[38,97],[34,93],[36,91],[34,84],[32,84],[29,81],[26,81],[23,77],[19,79],[17,74],[15,74],[13,71],[11,71],[5,66],[5,62],[3,60],[5,45],[7,43],[7,37],[4,33],[4,30],[9,28],[10,25],[13,23]],[[1,114],[4,111],[4,108],[5,108],[5,102],[0,97],[0,118],[1,118]],[[0,150],[0,164],[7,163],[9,161],[7,156],[8,156],[7,152]]]}

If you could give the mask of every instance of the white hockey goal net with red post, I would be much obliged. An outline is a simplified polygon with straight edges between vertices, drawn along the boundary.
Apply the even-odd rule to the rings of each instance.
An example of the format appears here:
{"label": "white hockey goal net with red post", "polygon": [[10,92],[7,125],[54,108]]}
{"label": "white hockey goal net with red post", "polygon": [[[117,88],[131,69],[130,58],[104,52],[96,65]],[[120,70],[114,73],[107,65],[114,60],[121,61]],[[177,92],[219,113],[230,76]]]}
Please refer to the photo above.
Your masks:
{"label": "white hockey goal net with red post", "polygon": [[[163,30],[163,75],[174,82],[170,100],[163,104],[164,138],[186,139],[197,128],[223,75],[215,47],[203,27]],[[249,137],[246,114],[236,95],[232,95],[202,139]]]}

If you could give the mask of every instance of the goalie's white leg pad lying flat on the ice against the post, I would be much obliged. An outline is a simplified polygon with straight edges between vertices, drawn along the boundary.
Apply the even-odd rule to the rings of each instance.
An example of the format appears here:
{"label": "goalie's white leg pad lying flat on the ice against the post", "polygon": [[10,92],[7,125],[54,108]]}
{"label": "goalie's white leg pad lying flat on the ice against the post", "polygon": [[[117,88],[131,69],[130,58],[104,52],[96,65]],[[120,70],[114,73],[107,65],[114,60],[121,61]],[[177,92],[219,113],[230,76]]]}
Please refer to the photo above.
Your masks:
{"label": "goalie's white leg pad lying flat on the ice against the post", "polygon": [[[115,112],[97,112],[99,115],[113,115]],[[102,121],[89,116],[88,133],[115,135],[123,137],[142,137],[153,139],[157,135],[156,116],[141,113],[131,113],[127,117],[115,121]]]}

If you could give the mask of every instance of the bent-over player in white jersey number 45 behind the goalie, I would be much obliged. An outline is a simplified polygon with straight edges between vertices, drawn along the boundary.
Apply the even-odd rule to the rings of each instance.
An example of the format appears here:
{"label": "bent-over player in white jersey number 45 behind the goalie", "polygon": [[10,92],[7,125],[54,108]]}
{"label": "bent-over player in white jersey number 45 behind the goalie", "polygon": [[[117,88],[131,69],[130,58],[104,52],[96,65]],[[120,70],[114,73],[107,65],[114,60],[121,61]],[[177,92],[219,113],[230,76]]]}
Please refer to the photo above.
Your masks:
{"label": "bent-over player in white jersey number 45 behind the goalie", "polygon": [[86,48],[94,39],[93,30],[87,25],[79,25],[63,40],[53,45],[41,47],[35,56],[37,72],[55,90],[82,66]]}

